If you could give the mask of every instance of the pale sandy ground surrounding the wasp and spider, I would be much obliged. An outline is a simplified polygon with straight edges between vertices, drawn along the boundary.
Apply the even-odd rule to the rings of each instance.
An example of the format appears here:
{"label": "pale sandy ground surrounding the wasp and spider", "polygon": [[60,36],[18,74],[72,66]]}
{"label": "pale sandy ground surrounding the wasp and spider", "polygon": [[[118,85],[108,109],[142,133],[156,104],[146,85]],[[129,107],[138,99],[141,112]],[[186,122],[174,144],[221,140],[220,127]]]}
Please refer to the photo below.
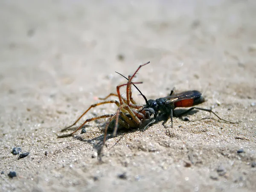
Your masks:
{"label": "pale sandy ground surrounding the wasp and spider", "polygon": [[[256,1],[42,2],[0,3],[1,191],[254,191]],[[147,61],[135,81],[148,99],[200,90],[200,107],[239,123],[204,111],[173,128],[160,118],[109,135],[102,164],[104,121],[57,138],[125,82],[115,71],[128,76]],[[18,160],[13,147],[30,154]]]}

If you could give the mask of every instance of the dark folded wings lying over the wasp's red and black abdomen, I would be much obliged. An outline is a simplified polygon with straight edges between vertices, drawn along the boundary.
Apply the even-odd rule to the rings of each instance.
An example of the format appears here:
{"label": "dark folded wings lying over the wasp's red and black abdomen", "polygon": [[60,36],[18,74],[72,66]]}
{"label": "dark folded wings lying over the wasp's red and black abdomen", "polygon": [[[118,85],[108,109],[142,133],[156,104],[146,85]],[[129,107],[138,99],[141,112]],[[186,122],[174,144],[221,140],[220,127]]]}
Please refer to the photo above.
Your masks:
{"label": "dark folded wings lying over the wasp's red and black abdomen", "polygon": [[181,93],[177,93],[171,96],[164,97],[166,99],[166,103],[178,102],[185,99],[194,99],[200,97],[202,93],[197,90],[184,91]]}

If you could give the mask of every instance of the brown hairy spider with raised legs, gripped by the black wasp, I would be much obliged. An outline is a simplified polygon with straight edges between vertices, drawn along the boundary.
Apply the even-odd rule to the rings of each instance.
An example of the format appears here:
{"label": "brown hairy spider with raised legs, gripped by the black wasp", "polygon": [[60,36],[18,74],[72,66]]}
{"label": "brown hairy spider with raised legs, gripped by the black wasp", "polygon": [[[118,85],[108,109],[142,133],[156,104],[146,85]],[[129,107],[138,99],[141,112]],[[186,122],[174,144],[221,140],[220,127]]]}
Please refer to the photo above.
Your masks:
{"label": "brown hairy spider with raised legs, gripped by the black wasp", "polygon": [[[142,82],[132,82],[132,79],[134,78],[136,73],[140,70],[140,68],[145,66],[146,64],[149,64],[149,62],[140,65],[132,76],[128,76],[128,79],[125,76],[123,76],[122,74],[118,73],[121,76],[125,77],[125,79],[127,79],[128,82],[125,83],[125,84],[121,84],[121,85],[116,86],[117,94],[116,93],[110,93],[105,98],[99,98],[101,100],[105,100],[105,99],[108,99],[110,96],[116,96],[116,97],[118,97],[119,102],[116,101],[116,100],[110,100],[110,101],[104,101],[104,102],[99,102],[99,103],[93,104],[76,120],[76,122],[74,122],[72,125],[68,126],[67,128],[62,129],[61,131],[66,131],[67,129],[71,128],[73,125],[76,125],[76,123],[91,108],[94,108],[94,107],[99,106],[99,105],[104,105],[104,104],[107,104],[107,103],[115,103],[118,106],[117,111],[116,111],[115,114],[105,114],[105,115],[102,115],[102,116],[96,116],[96,117],[93,117],[93,118],[90,118],[90,119],[86,119],[85,122],[82,125],[80,125],[80,127],[77,128],[75,131],[73,131],[70,134],[59,135],[58,138],[72,136],[74,133],[79,131],[79,129],[81,129],[84,126],[84,124],[87,123],[87,122],[94,121],[96,119],[102,119],[102,118],[110,117],[108,122],[106,123],[106,126],[105,126],[105,134],[104,134],[104,138],[103,138],[102,147],[100,148],[100,151],[99,151],[99,153],[100,153],[102,151],[103,146],[105,145],[107,131],[108,131],[109,127],[113,128],[113,125],[114,125],[113,136],[115,136],[118,125],[122,125],[122,127],[127,128],[127,129],[137,128],[137,127],[140,127],[140,125],[142,125],[142,123],[145,120],[150,119],[150,117],[155,114],[155,111],[152,108],[145,108],[145,106],[143,106],[143,105],[138,105],[134,101],[134,99],[132,98],[132,92],[131,92],[131,85],[134,85],[136,87],[135,84],[141,84],[142,83]],[[121,94],[120,94],[120,87],[123,87],[125,85],[127,86],[126,87],[126,99],[124,97],[122,97]],[[137,88],[137,90],[139,90],[139,89]],[[139,90],[139,92],[140,92],[140,90]],[[145,96],[142,93],[141,93],[141,95],[145,99]],[[146,101],[146,104],[148,105],[148,101],[146,99],[145,99],[145,101]],[[151,125],[154,122],[155,122],[155,119],[153,119],[151,122],[149,122],[145,127],[148,127],[149,125]]]}

